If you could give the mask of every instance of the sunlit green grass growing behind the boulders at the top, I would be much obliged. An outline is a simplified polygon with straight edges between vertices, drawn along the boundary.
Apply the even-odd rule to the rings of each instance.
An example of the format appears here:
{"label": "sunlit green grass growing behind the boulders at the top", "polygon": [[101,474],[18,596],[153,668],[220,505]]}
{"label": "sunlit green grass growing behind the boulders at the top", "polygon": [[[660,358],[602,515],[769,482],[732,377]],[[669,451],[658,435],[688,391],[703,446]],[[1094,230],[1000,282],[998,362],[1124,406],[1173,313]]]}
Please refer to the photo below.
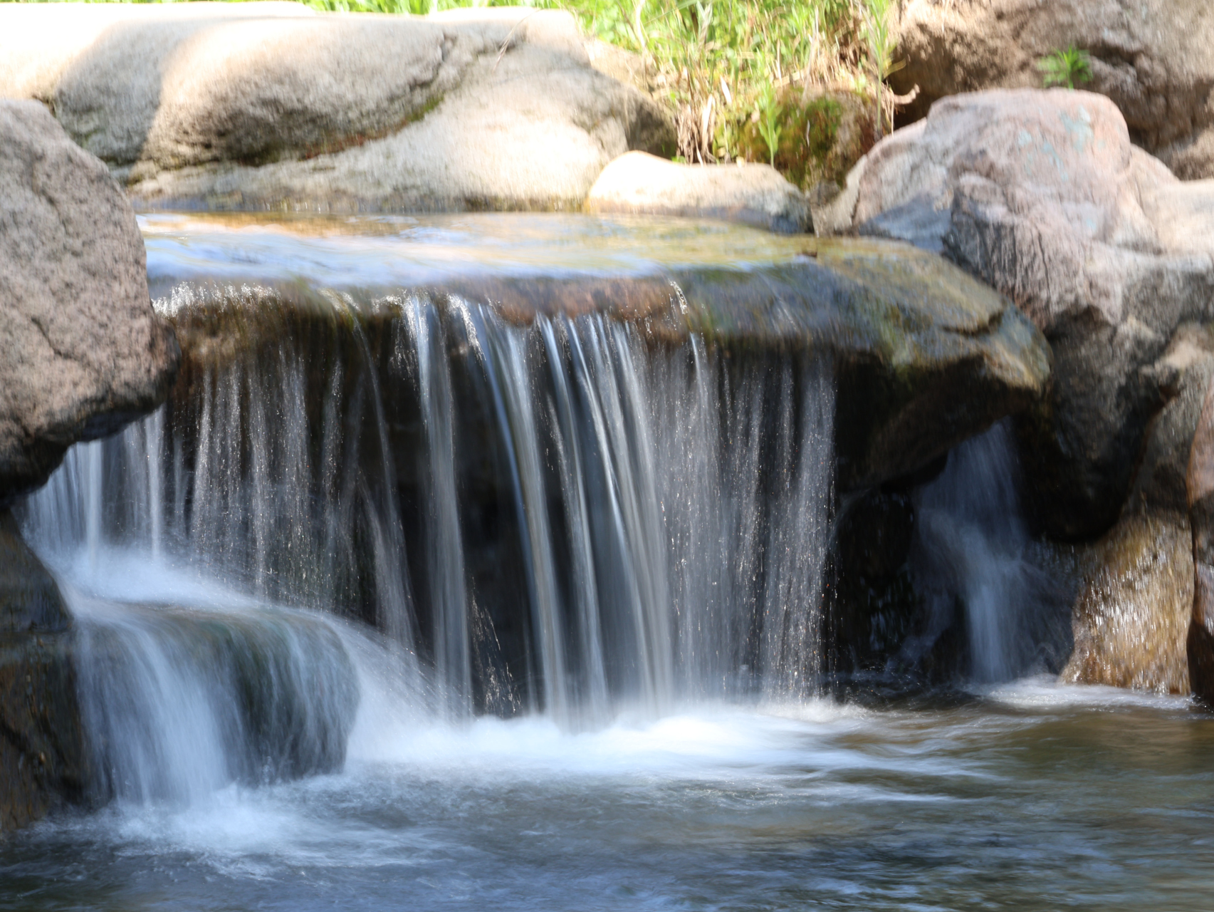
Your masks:
{"label": "sunlit green grass growing behind the boulders at the top", "polygon": [[651,91],[677,126],[677,155],[687,162],[747,158],[812,172],[787,162],[821,143],[806,124],[818,90],[828,87],[867,100],[878,137],[892,119],[883,87],[897,68],[892,0],[301,1],[318,10],[413,15],[466,6],[568,10],[586,34],[643,58]]}

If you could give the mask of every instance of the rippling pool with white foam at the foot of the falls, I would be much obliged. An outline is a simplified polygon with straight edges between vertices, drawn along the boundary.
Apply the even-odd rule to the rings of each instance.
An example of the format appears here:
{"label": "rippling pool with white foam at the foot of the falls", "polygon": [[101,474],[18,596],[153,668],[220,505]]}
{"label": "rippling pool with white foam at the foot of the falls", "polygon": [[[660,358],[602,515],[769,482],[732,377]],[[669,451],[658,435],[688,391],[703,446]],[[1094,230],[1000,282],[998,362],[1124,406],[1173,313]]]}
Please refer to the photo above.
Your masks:
{"label": "rippling pool with white foam at the foot of the falls", "polygon": [[561,731],[364,701],[339,775],[0,848],[11,910],[1207,910],[1214,719],[1029,679]]}

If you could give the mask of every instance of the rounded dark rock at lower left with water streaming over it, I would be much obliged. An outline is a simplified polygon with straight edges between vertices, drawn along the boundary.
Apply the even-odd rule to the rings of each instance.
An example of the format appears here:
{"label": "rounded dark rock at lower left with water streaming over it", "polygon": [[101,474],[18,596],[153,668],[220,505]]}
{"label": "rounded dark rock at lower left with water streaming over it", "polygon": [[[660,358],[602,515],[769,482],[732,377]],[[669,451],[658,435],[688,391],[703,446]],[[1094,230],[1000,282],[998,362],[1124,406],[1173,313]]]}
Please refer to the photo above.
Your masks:
{"label": "rounded dark rock at lower left with water streaming over it", "polygon": [[[314,616],[127,605],[83,617],[76,644],[93,799],[188,801],[345,763],[357,673]],[[181,726],[212,741],[183,758]]]}

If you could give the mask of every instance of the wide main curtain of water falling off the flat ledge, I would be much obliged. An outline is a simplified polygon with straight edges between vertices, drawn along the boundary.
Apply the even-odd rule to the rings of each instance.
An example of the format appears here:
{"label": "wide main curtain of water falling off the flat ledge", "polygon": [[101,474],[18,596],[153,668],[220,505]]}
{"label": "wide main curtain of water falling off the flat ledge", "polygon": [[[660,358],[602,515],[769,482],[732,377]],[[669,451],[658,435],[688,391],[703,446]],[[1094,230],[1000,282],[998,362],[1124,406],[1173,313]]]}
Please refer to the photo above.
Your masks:
{"label": "wide main curtain of water falling off the flat ledge", "polygon": [[[531,710],[584,727],[813,692],[824,358],[659,342],[602,315],[516,323],[420,291],[327,294],[302,315],[263,290],[194,294],[158,307],[274,332],[187,342],[165,407],[69,452],[24,510],[52,566],[121,548],[255,605],[371,624],[452,719]],[[120,664],[170,699],[170,669],[205,675],[166,633],[186,614],[148,611],[90,636],[118,655],[159,630]]]}

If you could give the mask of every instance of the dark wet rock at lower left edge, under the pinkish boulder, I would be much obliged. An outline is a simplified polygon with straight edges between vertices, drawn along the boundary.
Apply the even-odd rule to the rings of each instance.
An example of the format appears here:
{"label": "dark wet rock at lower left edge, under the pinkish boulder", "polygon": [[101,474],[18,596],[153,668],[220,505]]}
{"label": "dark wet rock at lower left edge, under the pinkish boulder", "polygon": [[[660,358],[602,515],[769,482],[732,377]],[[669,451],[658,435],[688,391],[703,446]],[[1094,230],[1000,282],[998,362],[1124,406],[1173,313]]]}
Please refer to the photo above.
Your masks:
{"label": "dark wet rock at lower left edge, under the pinkish boulder", "polygon": [[58,587],[0,511],[0,832],[84,797],[84,738]]}

